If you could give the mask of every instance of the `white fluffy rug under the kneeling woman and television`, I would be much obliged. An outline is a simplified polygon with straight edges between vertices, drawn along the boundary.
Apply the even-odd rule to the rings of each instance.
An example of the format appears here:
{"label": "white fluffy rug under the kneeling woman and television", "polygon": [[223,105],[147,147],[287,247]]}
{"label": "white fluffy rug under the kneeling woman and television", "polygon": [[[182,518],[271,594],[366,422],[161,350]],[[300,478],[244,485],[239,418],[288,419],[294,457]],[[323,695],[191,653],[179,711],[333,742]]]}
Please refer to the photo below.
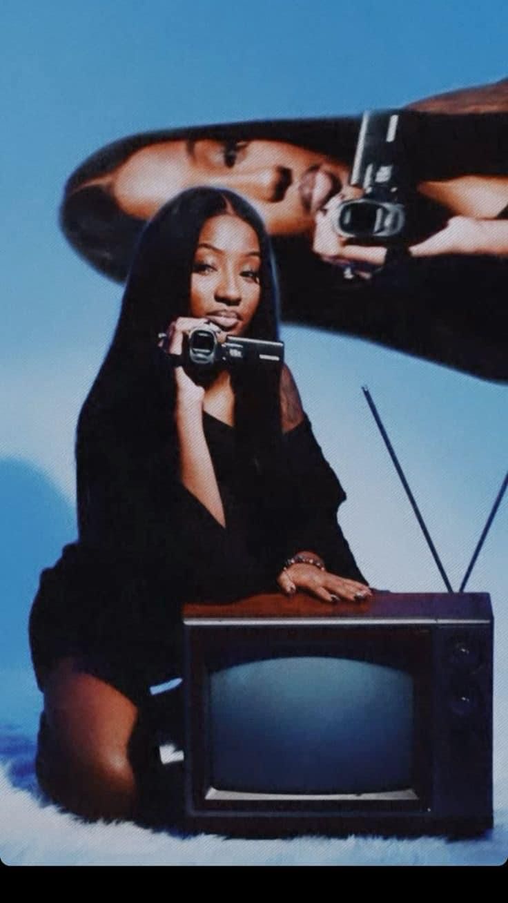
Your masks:
{"label": "white fluffy rug under the kneeling woman and television", "polygon": [[38,791],[33,740],[5,725],[0,741],[0,855],[8,865],[499,865],[507,857],[508,781],[495,786],[494,830],[477,840],[186,837],[60,812]]}

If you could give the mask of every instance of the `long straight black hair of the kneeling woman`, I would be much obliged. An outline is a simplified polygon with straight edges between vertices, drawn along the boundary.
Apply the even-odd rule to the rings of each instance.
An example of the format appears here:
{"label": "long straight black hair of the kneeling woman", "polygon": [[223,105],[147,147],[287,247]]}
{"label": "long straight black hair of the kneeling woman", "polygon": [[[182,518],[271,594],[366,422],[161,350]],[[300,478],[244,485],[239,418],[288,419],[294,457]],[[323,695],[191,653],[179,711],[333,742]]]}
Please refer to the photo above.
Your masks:
{"label": "long straight black hair of the kneeling woman", "polygon": [[[174,375],[169,358],[158,348],[157,336],[171,321],[188,315],[199,234],[208,219],[221,214],[244,220],[259,240],[260,301],[248,336],[278,339],[278,292],[271,242],[250,204],[231,191],[196,188],[183,191],[164,205],[143,229],[113,341],[79,416],[76,452],[80,528],[100,477],[97,469],[101,461],[116,460],[121,470],[122,459],[132,447],[143,461],[153,454],[154,446],[165,444],[167,466],[176,466]],[[282,437],[280,370],[245,366],[232,375],[232,383],[237,451],[254,476],[270,482],[275,479]]]}

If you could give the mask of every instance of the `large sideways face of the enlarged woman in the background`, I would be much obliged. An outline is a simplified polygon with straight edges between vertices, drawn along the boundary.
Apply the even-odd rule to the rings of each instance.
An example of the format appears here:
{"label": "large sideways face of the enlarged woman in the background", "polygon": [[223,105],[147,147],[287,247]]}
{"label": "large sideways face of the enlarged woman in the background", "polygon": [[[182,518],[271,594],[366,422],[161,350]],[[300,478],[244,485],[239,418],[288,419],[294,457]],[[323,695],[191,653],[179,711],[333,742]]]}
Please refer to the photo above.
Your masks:
{"label": "large sideways face of the enlarged woman in the background", "polygon": [[127,213],[148,219],[180,191],[199,185],[243,195],[275,235],[309,231],[316,211],[340,191],[348,168],[278,141],[166,141],[135,152],[112,190]]}

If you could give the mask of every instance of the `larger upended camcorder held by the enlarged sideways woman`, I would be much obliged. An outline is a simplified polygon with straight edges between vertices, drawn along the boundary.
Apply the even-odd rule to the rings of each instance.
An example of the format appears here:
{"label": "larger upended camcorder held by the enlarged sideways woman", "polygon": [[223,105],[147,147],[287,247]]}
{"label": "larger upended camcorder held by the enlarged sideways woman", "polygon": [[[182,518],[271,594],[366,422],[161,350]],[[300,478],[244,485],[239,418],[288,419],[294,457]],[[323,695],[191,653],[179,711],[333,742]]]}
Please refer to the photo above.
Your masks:
{"label": "larger upended camcorder held by the enlarged sideways woman", "polygon": [[362,118],[349,184],[364,195],[337,208],[337,234],[363,245],[407,246],[443,228],[448,213],[416,191],[411,113],[367,112]]}

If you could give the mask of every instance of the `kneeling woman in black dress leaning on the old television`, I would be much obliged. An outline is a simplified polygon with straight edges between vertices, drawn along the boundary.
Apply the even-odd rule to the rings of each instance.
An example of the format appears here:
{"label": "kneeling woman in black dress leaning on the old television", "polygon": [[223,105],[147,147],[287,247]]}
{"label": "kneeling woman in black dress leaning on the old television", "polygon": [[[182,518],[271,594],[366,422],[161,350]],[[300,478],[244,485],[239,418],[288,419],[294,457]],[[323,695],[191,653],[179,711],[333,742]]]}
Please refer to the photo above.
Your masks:
{"label": "kneeling woman in black dress leaning on the old television", "polygon": [[219,340],[275,340],[276,302],[262,221],[232,192],[186,191],[143,232],[79,416],[79,544],[42,574],[31,617],[38,774],[80,815],[143,807],[157,772],[145,702],[180,674],[182,602],[371,595],[289,369],[203,375],[182,357],[206,323]]}

